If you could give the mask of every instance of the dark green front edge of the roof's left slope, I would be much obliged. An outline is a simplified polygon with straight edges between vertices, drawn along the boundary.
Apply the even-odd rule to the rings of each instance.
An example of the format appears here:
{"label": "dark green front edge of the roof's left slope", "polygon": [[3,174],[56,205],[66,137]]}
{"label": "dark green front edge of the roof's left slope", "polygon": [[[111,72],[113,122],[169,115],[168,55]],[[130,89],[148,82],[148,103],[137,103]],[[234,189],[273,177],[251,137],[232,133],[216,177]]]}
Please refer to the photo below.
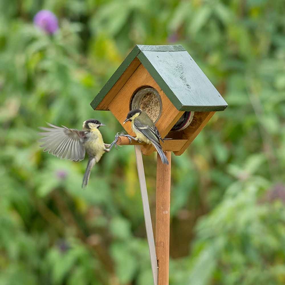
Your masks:
{"label": "dark green front edge of the roof's left slope", "polygon": [[140,53],[140,49],[138,46],[135,46],[133,50],[129,53],[129,55],[125,58],[122,64],[117,68],[115,73],[111,76],[111,78],[107,81],[104,87],[100,90],[100,92],[96,95],[93,101],[90,103],[91,107],[95,110],[99,103],[104,99],[106,94],[111,90],[111,88],[115,85],[115,83],[119,80],[121,75],[125,72],[131,62],[137,57]]}

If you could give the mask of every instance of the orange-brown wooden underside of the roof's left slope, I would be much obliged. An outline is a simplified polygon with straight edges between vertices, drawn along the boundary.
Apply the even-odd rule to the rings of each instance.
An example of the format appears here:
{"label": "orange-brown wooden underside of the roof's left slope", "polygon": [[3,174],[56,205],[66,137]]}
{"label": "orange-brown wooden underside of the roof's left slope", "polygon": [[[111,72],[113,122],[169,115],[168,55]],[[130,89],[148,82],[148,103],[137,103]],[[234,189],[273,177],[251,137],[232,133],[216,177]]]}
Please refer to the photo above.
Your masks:
{"label": "orange-brown wooden underside of the roof's left slope", "polygon": [[127,67],[125,72],[121,75],[119,80],[114,84],[111,90],[106,94],[101,103],[97,106],[96,110],[108,110],[109,103],[113,100],[113,98],[117,95],[120,89],[125,85],[125,83],[129,80],[135,70],[139,67],[141,62],[136,57],[131,64]]}

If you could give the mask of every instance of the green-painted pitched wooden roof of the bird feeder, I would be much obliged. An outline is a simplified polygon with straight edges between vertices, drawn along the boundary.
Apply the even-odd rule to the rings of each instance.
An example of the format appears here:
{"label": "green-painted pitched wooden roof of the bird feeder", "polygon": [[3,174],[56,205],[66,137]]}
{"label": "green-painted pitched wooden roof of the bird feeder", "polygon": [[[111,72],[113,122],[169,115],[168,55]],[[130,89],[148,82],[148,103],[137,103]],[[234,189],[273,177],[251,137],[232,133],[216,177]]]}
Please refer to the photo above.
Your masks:
{"label": "green-painted pitched wooden roof of the bird feeder", "polygon": [[136,45],[93,99],[93,109],[136,57],[178,110],[223,111],[227,107],[227,102],[183,46]]}

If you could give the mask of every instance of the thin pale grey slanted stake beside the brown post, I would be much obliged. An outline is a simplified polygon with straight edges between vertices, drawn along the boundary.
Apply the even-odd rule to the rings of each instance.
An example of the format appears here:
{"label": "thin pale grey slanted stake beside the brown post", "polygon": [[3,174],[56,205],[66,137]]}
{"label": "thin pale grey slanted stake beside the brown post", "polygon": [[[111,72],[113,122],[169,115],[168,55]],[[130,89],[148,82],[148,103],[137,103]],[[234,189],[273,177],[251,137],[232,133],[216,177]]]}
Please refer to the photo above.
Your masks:
{"label": "thin pale grey slanted stake beside the brown post", "polygon": [[149,254],[150,254],[152,276],[153,276],[154,285],[157,285],[157,280],[158,280],[157,268],[158,267],[157,267],[156,253],[155,253],[155,245],[154,245],[148,196],[147,196],[147,190],[146,190],[146,182],[145,182],[145,176],[144,176],[143,156],[141,153],[141,146],[135,145],[135,152],[136,152],[136,159],[137,159],[139,182],[141,186],[141,196],[143,200],[144,222],[145,222],[145,228],[146,228],[148,249],[149,249]]}

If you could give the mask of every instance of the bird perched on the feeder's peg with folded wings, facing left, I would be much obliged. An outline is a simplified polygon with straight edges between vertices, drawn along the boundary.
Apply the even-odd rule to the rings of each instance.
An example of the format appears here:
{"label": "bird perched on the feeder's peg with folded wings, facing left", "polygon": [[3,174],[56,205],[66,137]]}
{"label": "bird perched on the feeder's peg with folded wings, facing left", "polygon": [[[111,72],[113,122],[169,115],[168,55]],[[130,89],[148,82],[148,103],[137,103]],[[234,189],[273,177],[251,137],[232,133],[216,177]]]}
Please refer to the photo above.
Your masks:
{"label": "bird perched on the feeder's peg with folded wings, facing left", "polygon": [[168,160],[159,143],[160,140],[163,142],[163,139],[161,138],[159,131],[154,125],[152,119],[148,117],[148,114],[142,109],[134,109],[127,114],[127,118],[125,119],[124,124],[127,121],[132,122],[132,130],[137,137],[134,138],[130,135],[123,136],[129,137],[129,139],[134,139],[135,141],[152,144],[160,155],[162,163],[168,164]]}

